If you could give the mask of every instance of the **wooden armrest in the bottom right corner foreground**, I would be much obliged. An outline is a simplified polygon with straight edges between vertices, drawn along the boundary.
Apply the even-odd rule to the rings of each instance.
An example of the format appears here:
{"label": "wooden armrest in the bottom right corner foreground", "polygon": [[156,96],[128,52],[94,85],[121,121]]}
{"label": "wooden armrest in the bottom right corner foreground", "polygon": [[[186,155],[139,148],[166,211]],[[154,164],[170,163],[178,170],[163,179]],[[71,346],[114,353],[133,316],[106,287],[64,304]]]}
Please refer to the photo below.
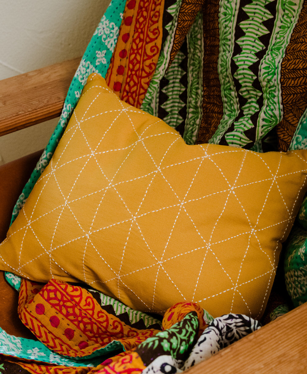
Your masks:
{"label": "wooden armrest in the bottom right corner foreground", "polygon": [[307,303],[200,362],[189,374],[307,373]]}

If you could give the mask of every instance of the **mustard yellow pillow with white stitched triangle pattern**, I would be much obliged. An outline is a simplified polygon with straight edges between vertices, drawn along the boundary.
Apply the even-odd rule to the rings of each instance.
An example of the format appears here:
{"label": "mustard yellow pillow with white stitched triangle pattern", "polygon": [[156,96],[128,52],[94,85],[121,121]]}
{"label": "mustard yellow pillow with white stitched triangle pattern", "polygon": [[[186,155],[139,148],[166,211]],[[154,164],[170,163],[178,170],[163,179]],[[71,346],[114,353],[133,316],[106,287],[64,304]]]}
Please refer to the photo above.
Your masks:
{"label": "mustard yellow pillow with white stitched triangle pattern", "polygon": [[264,311],[306,191],[306,151],[186,145],[92,75],[0,245],[0,268],[85,282],[137,310]]}

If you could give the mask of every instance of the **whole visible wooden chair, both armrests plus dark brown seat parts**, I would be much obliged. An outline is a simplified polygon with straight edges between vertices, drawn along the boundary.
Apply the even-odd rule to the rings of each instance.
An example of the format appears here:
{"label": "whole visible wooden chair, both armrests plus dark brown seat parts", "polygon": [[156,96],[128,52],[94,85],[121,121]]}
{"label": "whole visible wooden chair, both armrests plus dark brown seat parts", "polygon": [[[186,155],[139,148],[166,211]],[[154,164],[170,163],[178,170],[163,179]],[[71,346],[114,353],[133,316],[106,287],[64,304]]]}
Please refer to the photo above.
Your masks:
{"label": "whole visible wooden chair, both armrests plus dark brown seat parts", "polygon": [[[0,81],[0,136],[58,117],[80,58]],[[0,240],[40,152],[0,167]],[[2,276],[3,278],[3,276]],[[0,279],[0,327],[27,337],[17,292]],[[191,368],[189,374],[307,373],[307,303]]]}

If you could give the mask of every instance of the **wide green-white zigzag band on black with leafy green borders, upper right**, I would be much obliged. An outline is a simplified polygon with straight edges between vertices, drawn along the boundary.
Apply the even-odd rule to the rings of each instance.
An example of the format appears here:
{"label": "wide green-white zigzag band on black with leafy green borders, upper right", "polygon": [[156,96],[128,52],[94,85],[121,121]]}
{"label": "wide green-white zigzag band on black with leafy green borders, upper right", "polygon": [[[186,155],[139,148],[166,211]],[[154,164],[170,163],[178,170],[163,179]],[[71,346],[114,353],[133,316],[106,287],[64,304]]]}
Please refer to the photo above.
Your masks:
{"label": "wide green-white zigzag band on black with leafy green borders, upper right", "polygon": [[288,2],[286,8],[275,1],[222,1],[220,7],[218,68],[224,114],[210,142],[259,151],[283,116],[277,82],[302,1]]}

